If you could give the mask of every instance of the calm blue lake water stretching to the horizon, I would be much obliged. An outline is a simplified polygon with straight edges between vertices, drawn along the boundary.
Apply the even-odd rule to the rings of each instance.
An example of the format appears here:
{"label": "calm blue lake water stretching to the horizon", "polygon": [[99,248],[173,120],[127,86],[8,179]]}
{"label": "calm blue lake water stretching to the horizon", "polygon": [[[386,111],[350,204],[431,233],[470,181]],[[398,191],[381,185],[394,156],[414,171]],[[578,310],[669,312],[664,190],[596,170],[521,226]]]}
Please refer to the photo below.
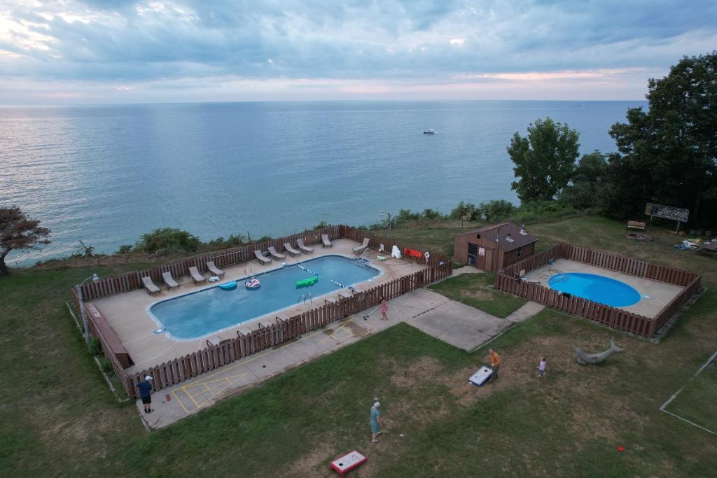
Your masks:
{"label": "calm blue lake water stretching to the horizon", "polygon": [[[0,206],[52,229],[11,262],[114,252],[157,227],[281,236],[380,211],[516,201],[505,148],[550,116],[581,153],[647,102],[246,102],[0,108]],[[424,135],[433,128],[436,135]]]}

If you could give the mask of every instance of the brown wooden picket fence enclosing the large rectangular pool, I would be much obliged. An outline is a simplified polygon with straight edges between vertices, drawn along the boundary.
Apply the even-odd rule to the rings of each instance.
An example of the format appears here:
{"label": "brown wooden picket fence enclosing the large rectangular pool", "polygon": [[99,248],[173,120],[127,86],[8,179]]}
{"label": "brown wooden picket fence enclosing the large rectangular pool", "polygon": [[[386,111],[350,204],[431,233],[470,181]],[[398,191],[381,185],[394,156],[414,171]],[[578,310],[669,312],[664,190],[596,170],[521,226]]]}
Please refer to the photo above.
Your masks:
{"label": "brown wooden picket fence enclosing the large rectangular pool", "polygon": [[[310,234],[313,234],[313,232],[311,232]],[[310,241],[307,242],[307,244],[316,244],[317,242],[320,243],[320,234],[329,234],[329,237],[331,239],[337,239],[338,237],[341,237],[344,239],[351,239],[356,242],[362,242],[364,237],[368,237],[369,247],[378,249],[380,244],[384,244],[384,248],[388,251],[388,254],[390,254],[391,247],[394,244],[402,251],[405,248],[402,244],[399,244],[397,242],[389,241],[388,239],[384,239],[380,236],[369,234],[367,231],[354,229],[349,226],[332,226],[330,228],[323,229],[322,231],[316,231],[318,239],[313,239],[312,236],[309,236],[312,237],[312,239],[304,240]],[[290,237],[298,239],[300,237],[306,238],[307,236],[296,235]],[[283,250],[282,243],[289,242],[289,239],[282,238],[276,239],[272,242],[262,243],[264,244],[262,250],[270,245],[275,245],[277,242],[281,243],[281,250]],[[277,246],[275,245],[275,247]],[[242,254],[245,254],[245,252],[242,252],[239,249],[242,248],[231,249],[232,254],[237,254],[237,257],[242,257]],[[246,249],[247,251],[249,251],[250,249],[250,252],[252,253],[250,259],[252,259],[253,251],[254,249],[259,249],[259,244],[257,244],[256,247],[252,246],[244,249]],[[278,247],[277,250],[279,250]],[[219,252],[217,254],[222,253],[225,252]],[[190,261],[170,264],[166,267],[175,267],[177,271],[181,271],[183,270],[181,269],[181,267],[189,267],[186,265],[187,263],[191,262],[191,265],[194,265],[195,262],[199,262],[200,260],[204,261],[208,257],[216,256],[212,256],[212,254],[210,254],[207,256],[198,257],[196,259],[191,259]],[[100,340],[103,352],[105,353],[105,357],[107,357],[110,360],[110,363],[112,363],[115,376],[117,376],[118,381],[122,383],[122,386],[128,396],[130,398],[136,398],[135,386],[137,383],[142,381],[143,377],[146,375],[151,375],[154,378],[154,380],[152,381],[154,391],[159,391],[163,388],[173,386],[176,383],[180,383],[182,381],[189,380],[190,378],[199,376],[202,373],[212,371],[216,368],[221,367],[222,365],[226,365],[227,363],[232,363],[235,360],[239,360],[240,358],[246,357],[247,355],[252,355],[252,353],[260,352],[261,350],[265,350],[266,348],[279,345],[286,340],[291,340],[312,330],[324,327],[336,320],[341,320],[342,318],[348,317],[349,315],[353,315],[358,312],[361,312],[362,310],[366,310],[370,307],[379,305],[380,297],[384,297],[386,300],[391,300],[395,297],[399,297],[400,295],[404,295],[407,292],[411,292],[412,290],[417,290],[421,287],[424,287],[425,285],[429,285],[432,282],[436,282],[438,280],[450,277],[452,273],[452,261],[450,260],[450,258],[445,257],[442,254],[432,253],[429,256],[428,261],[426,261],[426,259],[424,259],[423,257],[407,257],[407,259],[417,262],[419,264],[426,264],[427,262],[428,267],[418,272],[407,274],[389,282],[384,282],[383,284],[376,285],[369,290],[364,290],[363,292],[354,292],[353,295],[351,295],[350,297],[339,296],[338,300],[336,300],[335,302],[325,301],[324,305],[320,307],[315,307],[314,309],[308,310],[307,312],[303,312],[300,315],[290,317],[287,320],[283,320],[280,317],[276,317],[275,323],[273,323],[272,325],[259,325],[259,328],[257,328],[257,330],[252,330],[251,333],[242,334],[237,331],[237,337],[230,338],[229,340],[223,340],[222,343],[220,343],[219,345],[210,345],[209,347],[202,348],[201,350],[198,350],[189,355],[184,355],[183,357],[178,357],[174,360],[170,360],[168,362],[161,363],[160,365],[155,365],[153,367],[146,368],[143,371],[131,374],[125,371],[125,368],[123,368],[123,364],[120,360],[121,350],[123,350],[123,346],[121,346],[121,343],[121,349],[118,349],[118,345],[115,343],[115,340],[113,340],[113,338],[108,334],[102,333],[103,328],[100,322],[103,320],[103,317],[101,317],[101,312],[97,310],[96,307],[92,306],[92,304],[85,303],[83,304],[83,306],[85,307],[85,311],[87,312],[87,321],[89,324],[90,332],[92,332],[92,334]],[[217,261],[215,260],[215,262]],[[236,262],[217,262],[217,266],[224,267],[234,263]],[[158,270],[166,270],[166,267],[153,269],[149,272],[155,273]],[[133,279],[130,278],[133,277],[134,274],[143,273],[146,274],[146,272],[138,272],[132,274],[123,274],[119,277],[105,279],[104,285],[102,287],[87,289],[87,292],[90,292],[90,294],[94,294],[94,296],[88,297],[105,297],[106,295],[122,292],[121,290],[118,290],[118,285],[122,285],[122,287],[130,287],[128,290],[138,288],[140,286],[133,285],[133,282],[131,282]],[[177,275],[179,275],[179,272],[177,273]],[[102,281],[100,281],[100,283],[102,283]],[[112,287],[110,287],[110,285],[112,285]],[[83,289],[82,292],[84,295],[85,290]],[[79,301],[77,300],[77,295],[75,294],[74,290],[72,292],[72,295],[75,299],[75,303],[78,307],[80,307]],[[98,313],[93,312],[87,307],[94,308],[94,310]]]}

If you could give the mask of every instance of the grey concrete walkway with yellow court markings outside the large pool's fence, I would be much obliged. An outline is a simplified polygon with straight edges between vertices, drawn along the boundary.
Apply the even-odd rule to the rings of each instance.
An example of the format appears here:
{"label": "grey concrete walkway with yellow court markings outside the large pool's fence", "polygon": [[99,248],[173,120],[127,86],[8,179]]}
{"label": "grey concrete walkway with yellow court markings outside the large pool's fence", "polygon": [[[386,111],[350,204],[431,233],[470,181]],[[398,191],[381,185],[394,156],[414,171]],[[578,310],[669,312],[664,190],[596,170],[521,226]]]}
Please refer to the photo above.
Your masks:
{"label": "grey concrete walkway with yellow court markings outside the large pool's fence", "polygon": [[143,413],[141,401],[137,401],[137,410],[149,429],[160,429],[397,322],[407,322],[433,337],[471,351],[542,309],[542,305],[528,302],[501,319],[432,290],[419,289],[389,301],[388,321],[381,320],[381,312],[374,307],[331,327],[159,391],[153,395],[151,414]]}

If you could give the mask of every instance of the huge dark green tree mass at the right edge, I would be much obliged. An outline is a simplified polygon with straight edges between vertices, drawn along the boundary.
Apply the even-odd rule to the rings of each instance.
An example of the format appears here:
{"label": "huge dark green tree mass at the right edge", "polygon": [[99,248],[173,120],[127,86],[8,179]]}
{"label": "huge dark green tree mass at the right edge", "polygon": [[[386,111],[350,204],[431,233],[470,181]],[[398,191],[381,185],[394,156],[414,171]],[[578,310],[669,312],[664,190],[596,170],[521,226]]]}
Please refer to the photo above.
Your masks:
{"label": "huge dark green tree mass at the right edge", "polygon": [[608,212],[625,219],[654,201],[691,209],[690,221],[717,220],[717,52],[684,57],[647,83],[650,107],[627,110],[610,135]]}

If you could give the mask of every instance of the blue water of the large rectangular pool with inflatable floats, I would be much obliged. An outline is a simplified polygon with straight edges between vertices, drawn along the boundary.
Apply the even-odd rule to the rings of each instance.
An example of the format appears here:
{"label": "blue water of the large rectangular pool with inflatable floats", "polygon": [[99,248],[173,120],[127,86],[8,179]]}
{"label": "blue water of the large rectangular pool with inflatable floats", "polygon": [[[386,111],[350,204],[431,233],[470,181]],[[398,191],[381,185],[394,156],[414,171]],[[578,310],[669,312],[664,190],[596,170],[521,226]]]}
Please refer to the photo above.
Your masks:
{"label": "blue water of the large rectangular pool with inflatable floats", "polygon": [[[299,266],[308,269],[301,269]],[[315,285],[297,288],[296,282],[318,274]],[[217,286],[151,305],[148,312],[174,338],[190,340],[296,305],[307,292],[321,295],[376,277],[378,269],[360,267],[356,260],[330,255],[257,274],[262,285],[247,290],[245,279],[234,290]],[[222,283],[228,281],[222,281]]]}

